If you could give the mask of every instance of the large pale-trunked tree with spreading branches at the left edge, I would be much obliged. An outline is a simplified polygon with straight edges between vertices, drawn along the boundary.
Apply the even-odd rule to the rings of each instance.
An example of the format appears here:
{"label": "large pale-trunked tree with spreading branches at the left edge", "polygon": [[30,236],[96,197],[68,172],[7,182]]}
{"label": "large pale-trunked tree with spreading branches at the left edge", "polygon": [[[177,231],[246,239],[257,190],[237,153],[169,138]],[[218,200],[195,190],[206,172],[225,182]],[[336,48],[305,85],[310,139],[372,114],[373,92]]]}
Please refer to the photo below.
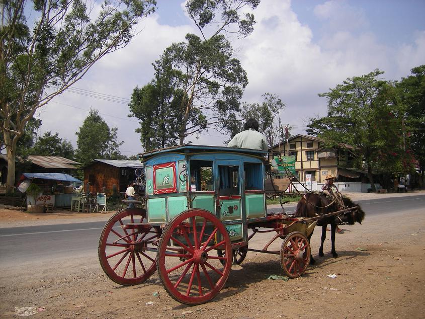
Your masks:
{"label": "large pale-trunked tree with spreading branches at the left edge", "polygon": [[[2,1],[0,117],[8,153],[7,187],[15,182],[17,143],[35,112],[77,82],[105,55],[125,46],[154,0]],[[31,11],[32,9],[32,11]],[[97,9],[97,8],[96,8]],[[27,19],[25,14],[36,17]]]}

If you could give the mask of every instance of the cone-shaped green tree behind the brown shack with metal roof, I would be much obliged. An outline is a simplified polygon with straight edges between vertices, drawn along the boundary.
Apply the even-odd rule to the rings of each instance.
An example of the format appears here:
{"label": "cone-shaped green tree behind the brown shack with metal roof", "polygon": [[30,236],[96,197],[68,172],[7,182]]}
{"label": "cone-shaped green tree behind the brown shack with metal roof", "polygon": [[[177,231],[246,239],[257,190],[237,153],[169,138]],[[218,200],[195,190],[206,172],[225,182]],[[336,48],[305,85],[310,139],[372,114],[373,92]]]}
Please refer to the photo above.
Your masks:
{"label": "cone-shaped green tree behind the brown shack with metal roof", "polygon": [[75,157],[82,164],[88,164],[95,158],[124,159],[119,147],[124,143],[117,140],[118,128],[109,128],[108,124],[99,115],[98,110],[90,110],[84,119],[77,135]]}

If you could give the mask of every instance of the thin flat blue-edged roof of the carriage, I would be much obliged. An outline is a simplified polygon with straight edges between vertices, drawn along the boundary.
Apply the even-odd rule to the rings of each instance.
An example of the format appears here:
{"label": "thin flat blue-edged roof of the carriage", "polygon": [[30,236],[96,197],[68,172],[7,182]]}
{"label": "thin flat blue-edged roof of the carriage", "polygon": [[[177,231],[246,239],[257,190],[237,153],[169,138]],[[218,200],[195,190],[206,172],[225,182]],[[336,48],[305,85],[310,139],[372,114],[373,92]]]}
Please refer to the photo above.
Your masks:
{"label": "thin flat blue-edged roof of the carriage", "polygon": [[164,153],[172,153],[172,152],[184,153],[184,154],[227,152],[227,153],[239,153],[239,154],[251,155],[251,156],[261,156],[261,157],[267,153],[267,151],[260,150],[260,149],[184,144],[184,145],[159,148],[159,149],[151,150],[148,152],[144,152],[139,154],[139,157],[141,158],[141,161],[144,162],[155,155],[164,154]]}

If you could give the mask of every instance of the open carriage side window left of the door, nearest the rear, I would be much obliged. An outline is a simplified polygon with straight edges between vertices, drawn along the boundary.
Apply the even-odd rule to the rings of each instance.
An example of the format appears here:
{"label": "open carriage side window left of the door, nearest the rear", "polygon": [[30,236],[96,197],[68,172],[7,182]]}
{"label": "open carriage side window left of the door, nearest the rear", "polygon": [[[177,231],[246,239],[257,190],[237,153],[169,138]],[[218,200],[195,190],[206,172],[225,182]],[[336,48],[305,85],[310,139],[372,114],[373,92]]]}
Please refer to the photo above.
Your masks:
{"label": "open carriage side window left of the door, nearest the rear", "polygon": [[214,191],[212,161],[190,161],[191,191]]}

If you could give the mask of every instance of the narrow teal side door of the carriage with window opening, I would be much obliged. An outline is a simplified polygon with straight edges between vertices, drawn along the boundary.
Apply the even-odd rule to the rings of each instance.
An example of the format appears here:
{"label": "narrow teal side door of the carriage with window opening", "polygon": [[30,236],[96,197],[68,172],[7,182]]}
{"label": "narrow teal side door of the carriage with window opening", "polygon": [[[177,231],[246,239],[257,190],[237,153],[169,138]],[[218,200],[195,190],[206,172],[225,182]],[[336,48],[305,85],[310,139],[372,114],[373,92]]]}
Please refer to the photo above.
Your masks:
{"label": "narrow teal side door of the carriage with window opening", "polygon": [[230,240],[240,241],[243,237],[242,229],[242,170],[239,161],[217,160],[218,183],[217,212],[224,222],[230,235]]}

